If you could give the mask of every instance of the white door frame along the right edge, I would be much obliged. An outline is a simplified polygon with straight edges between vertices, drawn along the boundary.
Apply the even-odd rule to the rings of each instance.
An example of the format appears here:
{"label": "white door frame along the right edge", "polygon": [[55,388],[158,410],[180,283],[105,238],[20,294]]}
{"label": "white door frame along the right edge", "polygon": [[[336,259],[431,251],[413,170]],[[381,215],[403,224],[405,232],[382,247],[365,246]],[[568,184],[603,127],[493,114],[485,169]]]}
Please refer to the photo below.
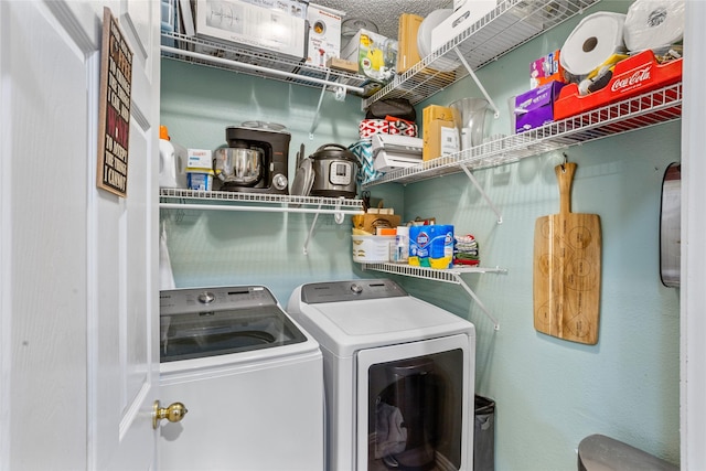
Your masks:
{"label": "white door frame along the right edge", "polygon": [[[684,44],[698,45],[706,41],[706,4],[686,2]],[[706,173],[706,73],[704,54],[684,56],[684,105],[682,115],[682,385],[681,432],[682,469],[706,469],[706,249],[702,240],[706,232],[704,199]]]}

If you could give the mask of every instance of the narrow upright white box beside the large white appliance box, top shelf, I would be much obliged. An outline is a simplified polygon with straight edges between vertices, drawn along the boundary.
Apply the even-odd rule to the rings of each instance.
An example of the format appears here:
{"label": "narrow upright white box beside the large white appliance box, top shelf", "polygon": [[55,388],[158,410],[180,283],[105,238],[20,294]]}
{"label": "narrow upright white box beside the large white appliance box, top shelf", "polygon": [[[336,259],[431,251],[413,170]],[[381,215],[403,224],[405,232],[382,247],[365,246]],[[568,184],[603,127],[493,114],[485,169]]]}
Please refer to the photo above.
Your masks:
{"label": "narrow upright white box beside the large white appliance box, top shelf", "polygon": [[341,55],[341,20],[345,13],[314,3],[309,4],[309,46],[307,64],[325,66],[331,57]]}

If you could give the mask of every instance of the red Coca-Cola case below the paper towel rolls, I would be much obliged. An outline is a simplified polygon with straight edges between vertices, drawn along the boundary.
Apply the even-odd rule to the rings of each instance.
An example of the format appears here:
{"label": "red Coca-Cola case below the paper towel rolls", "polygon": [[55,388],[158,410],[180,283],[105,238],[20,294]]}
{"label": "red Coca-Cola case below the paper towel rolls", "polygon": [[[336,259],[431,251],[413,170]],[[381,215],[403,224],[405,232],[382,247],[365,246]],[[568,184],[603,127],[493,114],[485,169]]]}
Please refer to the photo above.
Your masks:
{"label": "red Coca-Cola case below the paper towel rolls", "polygon": [[613,76],[603,88],[580,96],[577,84],[568,84],[554,104],[558,121],[601,106],[675,84],[682,79],[682,58],[659,64],[652,51],[643,51],[616,64]]}

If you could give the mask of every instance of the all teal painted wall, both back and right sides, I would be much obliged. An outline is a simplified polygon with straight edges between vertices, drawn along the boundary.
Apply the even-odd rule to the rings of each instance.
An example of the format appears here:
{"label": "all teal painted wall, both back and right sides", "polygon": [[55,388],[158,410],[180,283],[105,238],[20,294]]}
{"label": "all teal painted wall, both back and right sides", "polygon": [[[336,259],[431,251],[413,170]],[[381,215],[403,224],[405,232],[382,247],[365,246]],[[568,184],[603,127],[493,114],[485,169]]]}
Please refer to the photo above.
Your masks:
{"label": "all teal painted wall, both back and right sides", "polygon": [[[602,1],[625,11],[629,2]],[[597,9],[588,10],[588,12]],[[489,133],[509,133],[507,98],[528,88],[528,63],[561,46],[579,19],[518,47],[478,72],[502,116]],[[309,139],[319,90],[223,71],[162,61],[162,124],[175,142],[215,148],[224,128],[246,119],[278,121],[307,153],[325,142],[351,143],[363,116],[360,100],[324,98],[324,116]],[[480,96],[467,78],[428,103],[448,105]],[[422,104],[422,106],[426,104]],[[419,107],[419,111],[421,106]],[[419,113],[420,116],[420,113]],[[680,124],[652,127],[567,150],[578,163],[573,211],[599,214],[602,291],[597,345],[537,333],[532,312],[532,258],[537,217],[558,212],[554,165],[560,153],[475,172],[500,208],[502,224],[463,173],[372,188],[405,220],[437,217],[472,233],[484,266],[503,275],[463,279],[498,318],[493,329],[477,303],[454,285],[398,278],[413,295],[469,319],[477,327],[479,394],[496,402],[496,469],[576,469],[581,438],[603,433],[678,462],[678,290],[659,277],[662,175],[680,160]],[[290,175],[293,174],[293,157]],[[244,212],[164,212],[178,286],[264,283],[286,303],[301,282],[379,277],[351,261],[350,218],[320,216],[304,256],[312,215]]]}

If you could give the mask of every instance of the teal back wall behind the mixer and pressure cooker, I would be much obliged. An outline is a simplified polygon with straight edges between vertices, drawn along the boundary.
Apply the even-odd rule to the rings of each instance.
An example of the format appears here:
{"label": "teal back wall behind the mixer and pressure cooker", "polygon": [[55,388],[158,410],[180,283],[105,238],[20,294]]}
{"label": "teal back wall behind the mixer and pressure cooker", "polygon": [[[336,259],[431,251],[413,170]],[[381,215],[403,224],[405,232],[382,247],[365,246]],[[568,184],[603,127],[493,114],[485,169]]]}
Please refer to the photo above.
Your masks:
{"label": "teal back wall behind the mixer and pressure cooker", "polygon": [[[310,138],[320,95],[315,88],[162,60],[161,124],[174,142],[216,149],[225,143],[227,126],[255,119],[280,122],[292,136],[290,179],[301,143],[309,156],[329,142],[357,140],[361,99],[349,96],[338,103],[330,93]],[[397,185],[376,199],[404,211]],[[163,211],[162,224],[178,287],[261,283],[286,304],[303,282],[355,277],[350,216],[338,225],[332,215],[186,210]]]}

